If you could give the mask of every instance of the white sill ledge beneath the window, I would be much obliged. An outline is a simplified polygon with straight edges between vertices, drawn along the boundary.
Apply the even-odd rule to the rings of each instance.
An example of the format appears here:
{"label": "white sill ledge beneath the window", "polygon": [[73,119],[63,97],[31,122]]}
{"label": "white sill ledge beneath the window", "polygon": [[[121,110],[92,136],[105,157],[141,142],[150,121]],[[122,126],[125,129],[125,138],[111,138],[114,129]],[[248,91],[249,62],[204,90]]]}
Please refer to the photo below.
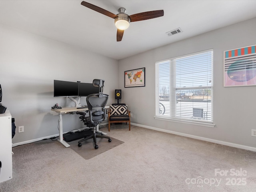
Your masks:
{"label": "white sill ledge beneath the window", "polygon": [[213,128],[215,126],[215,124],[213,124],[213,122],[191,121],[191,120],[183,120],[183,119],[176,119],[176,118],[167,118],[167,117],[162,117],[162,116],[154,116],[154,118],[156,120],[185,123],[185,124],[198,125],[198,126],[204,126],[204,127],[212,127]]}

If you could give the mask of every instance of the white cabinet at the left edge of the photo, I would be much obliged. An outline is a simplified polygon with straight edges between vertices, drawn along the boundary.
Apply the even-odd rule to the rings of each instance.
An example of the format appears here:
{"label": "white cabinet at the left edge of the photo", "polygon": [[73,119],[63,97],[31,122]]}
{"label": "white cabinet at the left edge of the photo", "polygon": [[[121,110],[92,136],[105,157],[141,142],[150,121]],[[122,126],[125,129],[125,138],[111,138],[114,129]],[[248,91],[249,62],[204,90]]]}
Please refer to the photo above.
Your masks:
{"label": "white cabinet at the left edge of the photo", "polygon": [[12,178],[12,116],[10,111],[0,114],[0,182]]}

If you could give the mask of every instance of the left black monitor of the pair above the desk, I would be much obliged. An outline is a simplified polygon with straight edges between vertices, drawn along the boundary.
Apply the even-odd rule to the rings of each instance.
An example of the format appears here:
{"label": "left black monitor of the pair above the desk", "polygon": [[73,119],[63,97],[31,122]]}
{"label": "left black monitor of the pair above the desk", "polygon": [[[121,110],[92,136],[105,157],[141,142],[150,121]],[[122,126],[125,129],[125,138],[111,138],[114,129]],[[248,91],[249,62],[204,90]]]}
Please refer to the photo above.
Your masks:
{"label": "left black monitor of the pair above the desk", "polygon": [[78,96],[78,82],[54,80],[54,97]]}

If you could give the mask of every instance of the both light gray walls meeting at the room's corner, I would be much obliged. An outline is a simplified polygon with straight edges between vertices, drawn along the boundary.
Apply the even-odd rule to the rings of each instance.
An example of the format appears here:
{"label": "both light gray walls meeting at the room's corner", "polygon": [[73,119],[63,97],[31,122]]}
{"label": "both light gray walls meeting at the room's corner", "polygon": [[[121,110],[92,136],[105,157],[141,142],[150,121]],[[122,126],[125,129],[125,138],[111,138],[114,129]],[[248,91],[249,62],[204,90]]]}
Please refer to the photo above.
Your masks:
{"label": "both light gray walls meeting at the room's corner", "polygon": [[[54,79],[92,82],[94,78],[103,78],[104,92],[110,94],[108,104],[115,102],[114,90],[122,89],[121,102],[128,104],[134,124],[255,147],[256,137],[251,136],[251,129],[256,129],[256,87],[223,86],[223,52],[256,44],[255,31],[256,18],[116,61],[0,25],[2,104],[10,110],[16,126],[24,126],[25,130],[16,132],[12,142],[29,142],[58,134],[58,114],[50,110],[51,106],[55,103],[74,106],[74,102],[53,97]],[[214,49],[216,126],[155,120],[155,62],[210,48]],[[124,88],[124,71],[141,67],[146,67],[146,86]],[[83,124],[77,115],[65,115],[63,126],[65,132],[82,128]]]}

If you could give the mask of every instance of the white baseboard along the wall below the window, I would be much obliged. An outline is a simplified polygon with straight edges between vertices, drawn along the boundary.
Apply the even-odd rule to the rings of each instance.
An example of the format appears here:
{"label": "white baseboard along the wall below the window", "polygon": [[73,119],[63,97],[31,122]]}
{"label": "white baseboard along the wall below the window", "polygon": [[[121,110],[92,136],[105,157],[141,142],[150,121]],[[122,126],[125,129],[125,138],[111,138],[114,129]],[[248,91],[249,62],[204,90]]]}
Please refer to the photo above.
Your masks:
{"label": "white baseboard along the wall below the window", "polygon": [[131,123],[131,125],[256,152],[255,147],[250,147],[250,146],[245,146],[245,145],[240,145],[240,144],[235,144],[235,143],[230,143],[230,142],[225,142],[225,141],[220,141],[220,140],[215,140],[215,139],[210,139],[210,138],[205,138],[205,137],[200,137],[200,136],[194,136],[194,135],[184,134],[184,133],[170,131],[170,130],[164,130],[164,129],[140,125],[140,124],[136,124],[136,123]]}

